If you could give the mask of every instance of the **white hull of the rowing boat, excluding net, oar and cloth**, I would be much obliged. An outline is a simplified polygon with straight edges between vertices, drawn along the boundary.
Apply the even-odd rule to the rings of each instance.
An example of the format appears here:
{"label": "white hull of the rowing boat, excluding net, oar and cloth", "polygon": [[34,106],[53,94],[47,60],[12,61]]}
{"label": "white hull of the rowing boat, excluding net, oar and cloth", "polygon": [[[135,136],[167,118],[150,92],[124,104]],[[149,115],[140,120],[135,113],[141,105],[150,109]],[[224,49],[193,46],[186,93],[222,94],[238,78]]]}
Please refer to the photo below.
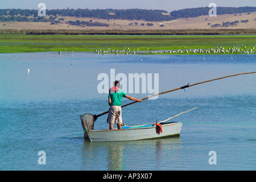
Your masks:
{"label": "white hull of the rowing boat, excluding net, oar and cloth", "polygon": [[[150,124],[151,125],[151,124]],[[155,125],[134,126],[122,130],[87,130],[86,134],[91,142],[116,142],[129,140],[143,140],[152,138],[163,138],[180,135],[181,122],[173,122],[162,125],[162,133],[157,133]]]}

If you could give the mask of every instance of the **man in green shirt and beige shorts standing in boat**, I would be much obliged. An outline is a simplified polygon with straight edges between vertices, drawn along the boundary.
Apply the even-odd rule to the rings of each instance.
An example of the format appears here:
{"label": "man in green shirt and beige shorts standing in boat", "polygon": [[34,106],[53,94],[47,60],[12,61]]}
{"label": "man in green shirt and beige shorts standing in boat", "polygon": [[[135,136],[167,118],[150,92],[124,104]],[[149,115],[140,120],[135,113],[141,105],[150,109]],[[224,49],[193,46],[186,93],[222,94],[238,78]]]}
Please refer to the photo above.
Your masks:
{"label": "man in green shirt and beige shorts standing in boat", "polygon": [[122,98],[126,97],[131,101],[141,102],[141,99],[134,98],[128,96],[125,92],[119,89],[120,82],[114,81],[113,87],[109,89],[109,116],[108,116],[108,123],[109,123],[109,130],[114,129],[114,123],[117,123],[117,129],[121,130],[123,123],[122,121]]}

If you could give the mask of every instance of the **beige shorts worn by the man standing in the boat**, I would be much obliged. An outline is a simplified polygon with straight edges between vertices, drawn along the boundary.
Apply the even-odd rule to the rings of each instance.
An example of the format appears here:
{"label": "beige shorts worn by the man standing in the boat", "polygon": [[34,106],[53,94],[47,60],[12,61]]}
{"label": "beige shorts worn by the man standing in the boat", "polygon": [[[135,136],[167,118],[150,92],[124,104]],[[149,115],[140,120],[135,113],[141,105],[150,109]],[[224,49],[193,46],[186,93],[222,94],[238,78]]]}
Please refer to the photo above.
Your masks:
{"label": "beige shorts worn by the man standing in the boat", "polygon": [[119,124],[123,123],[121,106],[110,106],[108,123],[119,123]]}

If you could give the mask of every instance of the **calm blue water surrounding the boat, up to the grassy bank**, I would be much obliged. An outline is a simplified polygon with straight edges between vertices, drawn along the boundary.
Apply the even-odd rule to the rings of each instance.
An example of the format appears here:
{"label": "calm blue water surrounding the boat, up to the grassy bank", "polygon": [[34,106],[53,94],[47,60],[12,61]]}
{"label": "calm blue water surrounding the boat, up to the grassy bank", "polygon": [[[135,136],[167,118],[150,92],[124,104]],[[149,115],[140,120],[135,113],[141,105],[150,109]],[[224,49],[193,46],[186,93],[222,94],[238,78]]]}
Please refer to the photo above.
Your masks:
{"label": "calm blue water surrounding the boat, up to the grassy bank", "polygon": [[[111,68],[115,74],[159,73],[159,91],[164,92],[256,71],[255,55],[230,57],[1,54],[0,169],[255,170],[256,74],[208,82],[123,108],[123,120],[133,126],[197,107],[172,119],[184,122],[180,137],[90,143],[82,134],[81,114],[109,108],[108,94],[97,91],[100,73],[110,76]],[[144,98],[148,93],[129,95]],[[103,115],[95,129],[107,128]],[[39,151],[46,152],[46,165],[38,164]],[[209,164],[210,151],[216,152],[217,164]]]}

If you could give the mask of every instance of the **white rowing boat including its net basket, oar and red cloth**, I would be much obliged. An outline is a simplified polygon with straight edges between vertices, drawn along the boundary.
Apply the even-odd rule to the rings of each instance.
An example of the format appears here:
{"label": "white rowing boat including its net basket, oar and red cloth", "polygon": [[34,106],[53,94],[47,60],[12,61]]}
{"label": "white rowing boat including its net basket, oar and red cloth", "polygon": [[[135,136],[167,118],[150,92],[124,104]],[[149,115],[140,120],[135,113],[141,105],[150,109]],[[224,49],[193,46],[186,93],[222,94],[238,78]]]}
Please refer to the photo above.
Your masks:
{"label": "white rowing boat including its net basket, oar and red cloth", "polygon": [[[194,109],[196,109],[196,107],[191,110]],[[187,113],[188,111],[184,111],[180,114]],[[88,138],[90,142],[117,142],[179,136],[182,122],[168,121],[180,114],[159,123],[156,121],[156,123],[146,125],[122,126],[122,130],[93,130],[95,120],[92,114],[83,114],[80,118],[82,129],[84,129],[84,137]]]}

